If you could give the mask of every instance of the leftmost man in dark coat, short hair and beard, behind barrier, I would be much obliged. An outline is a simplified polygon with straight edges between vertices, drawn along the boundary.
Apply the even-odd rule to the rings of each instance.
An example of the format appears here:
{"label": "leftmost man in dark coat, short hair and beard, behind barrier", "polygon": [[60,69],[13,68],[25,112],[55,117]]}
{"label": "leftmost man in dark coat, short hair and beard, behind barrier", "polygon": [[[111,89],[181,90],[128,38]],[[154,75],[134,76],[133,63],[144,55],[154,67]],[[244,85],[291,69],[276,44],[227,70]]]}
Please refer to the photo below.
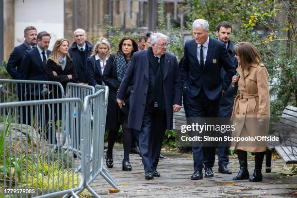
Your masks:
{"label": "leftmost man in dark coat, short hair and beard, behind barrier", "polygon": [[[9,73],[9,75],[15,79],[20,80],[20,67],[22,64],[23,57],[27,51],[33,49],[36,47],[36,37],[37,37],[37,30],[33,26],[28,26],[24,30],[24,38],[25,41],[20,44],[19,46],[16,46],[15,49],[11,52],[6,70]],[[19,84],[17,84],[17,97],[18,100],[21,101],[21,87]]]}

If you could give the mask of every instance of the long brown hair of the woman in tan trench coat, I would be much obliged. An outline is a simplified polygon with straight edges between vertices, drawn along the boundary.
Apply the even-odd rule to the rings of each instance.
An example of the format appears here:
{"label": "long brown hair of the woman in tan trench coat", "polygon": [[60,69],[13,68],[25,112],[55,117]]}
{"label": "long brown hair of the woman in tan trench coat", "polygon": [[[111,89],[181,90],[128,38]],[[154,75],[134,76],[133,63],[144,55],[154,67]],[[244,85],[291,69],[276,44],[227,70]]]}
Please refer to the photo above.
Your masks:
{"label": "long brown hair of the woman in tan trench coat", "polygon": [[242,69],[248,70],[251,64],[261,64],[262,59],[260,52],[249,42],[240,42],[233,48],[233,53],[239,56],[238,63]]}

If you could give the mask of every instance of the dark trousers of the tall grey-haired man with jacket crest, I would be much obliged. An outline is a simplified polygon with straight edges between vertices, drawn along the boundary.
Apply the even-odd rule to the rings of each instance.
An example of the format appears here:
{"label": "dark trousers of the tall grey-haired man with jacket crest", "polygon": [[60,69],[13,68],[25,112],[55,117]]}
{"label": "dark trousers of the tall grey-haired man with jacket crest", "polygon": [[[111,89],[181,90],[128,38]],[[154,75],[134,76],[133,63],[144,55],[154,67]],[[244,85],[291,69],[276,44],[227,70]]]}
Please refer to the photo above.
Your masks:
{"label": "dark trousers of the tall grey-haired man with jacket crest", "polygon": [[[203,89],[194,97],[185,97],[186,111],[189,117],[217,117],[220,98],[211,100],[205,95]],[[194,170],[202,170],[203,166],[213,167],[215,147],[192,147]]]}

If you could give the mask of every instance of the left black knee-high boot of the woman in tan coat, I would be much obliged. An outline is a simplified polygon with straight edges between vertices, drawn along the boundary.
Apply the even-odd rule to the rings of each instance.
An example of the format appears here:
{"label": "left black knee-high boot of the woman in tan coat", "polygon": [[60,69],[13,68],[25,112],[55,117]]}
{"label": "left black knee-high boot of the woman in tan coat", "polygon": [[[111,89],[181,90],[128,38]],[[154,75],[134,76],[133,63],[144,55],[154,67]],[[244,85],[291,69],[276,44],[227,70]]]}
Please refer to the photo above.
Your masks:
{"label": "left black knee-high boot of the woman in tan coat", "polygon": [[233,180],[248,180],[249,173],[247,170],[247,151],[244,150],[236,150],[240,169],[238,175],[233,178]]}

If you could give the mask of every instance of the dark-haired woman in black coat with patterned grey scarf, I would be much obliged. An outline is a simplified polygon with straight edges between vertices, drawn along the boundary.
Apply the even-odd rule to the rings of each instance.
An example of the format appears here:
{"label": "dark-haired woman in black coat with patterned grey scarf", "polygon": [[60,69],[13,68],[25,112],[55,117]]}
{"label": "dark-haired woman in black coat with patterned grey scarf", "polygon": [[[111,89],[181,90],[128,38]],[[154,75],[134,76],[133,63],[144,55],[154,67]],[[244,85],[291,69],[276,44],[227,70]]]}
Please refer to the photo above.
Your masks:
{"label": "dark-haired woman in black coat with patterned grey scarf", "polygon": [[[106,129],[108,133],[108,149],[106,151],[106,165],[109,168],[114,166],[113,161],[113,147],[119,126],[123,127],[123,145],[124,145],[124,159],[122,162],[122,169],[131,171],[132,166],[129,162],[129,151],[131,148],[132,132],[128,128],[128,114],[129,114],[129,98],[132,90],[132,83],[127,90],[125,98],[125,106],[120,109],[116,102],[116,94],[124,77],[124,74],[129,66],[130,59],[135,51],[138,51],[136,41],[131,36],[124,36],[118,45],[116,54],[111,54],[103,71],[103,82],[109,87],[108,107],[107,107],[107,121]],[[110,119],[111,118],[111,119]]]}

